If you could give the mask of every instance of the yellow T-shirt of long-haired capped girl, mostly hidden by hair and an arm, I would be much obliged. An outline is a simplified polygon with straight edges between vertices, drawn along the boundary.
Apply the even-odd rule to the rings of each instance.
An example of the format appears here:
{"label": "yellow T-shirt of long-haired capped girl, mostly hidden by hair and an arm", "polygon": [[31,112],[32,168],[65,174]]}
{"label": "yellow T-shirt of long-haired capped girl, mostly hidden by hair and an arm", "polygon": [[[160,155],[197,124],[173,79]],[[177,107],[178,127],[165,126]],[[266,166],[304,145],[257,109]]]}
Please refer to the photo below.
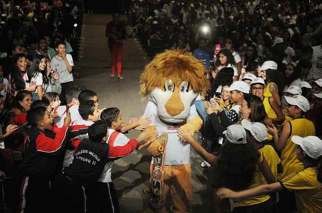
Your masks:
{"label": "yellow T-shirt of long-haired capped girl, mostly hidden by hair and an arm", "polygon": [[[260,154],[260,158],[257,162],[256,165],[256,170],[254,172],[254,177],[253,177],[253,181],[252,184],[249,186],[249,188],[254,188],[256,186],[262,185],[264,184],[263,179],[264,176],[261,172],[261,163],[264,160],[263,154],[262,152],[259,151]],[[259,196],[255,196],[255,197],[248,197],[242,200],[234,200],[234,207],[240,207],[240,206],[248,206],[248,205],[255,205],[258,203],[262,203],[265,202],[266,200],[268,200],[271,196],[268,194],[263,194],[263,195],[259,195]]]}

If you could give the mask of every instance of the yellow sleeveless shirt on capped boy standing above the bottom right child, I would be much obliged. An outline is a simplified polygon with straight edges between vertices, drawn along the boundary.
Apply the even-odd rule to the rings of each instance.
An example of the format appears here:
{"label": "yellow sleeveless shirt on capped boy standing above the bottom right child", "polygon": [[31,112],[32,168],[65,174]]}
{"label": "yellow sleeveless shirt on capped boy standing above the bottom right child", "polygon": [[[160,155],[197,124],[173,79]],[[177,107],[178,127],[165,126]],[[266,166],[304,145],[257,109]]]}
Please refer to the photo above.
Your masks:
{"label": "yellow sleeveless shirt on capped boy standing above the bottom right child", "polygon": [[303,163],[297,159],[296,144],[291,141],[292,136],[298,135],[300,137],[306,137],[315,135],[314,124],[306,118],[296,118],[289,121],[289,123],[291,125],[291,134],[286,141],[284,149],[281,151],[283,173],[279,175],[279,179],[303,169]]}

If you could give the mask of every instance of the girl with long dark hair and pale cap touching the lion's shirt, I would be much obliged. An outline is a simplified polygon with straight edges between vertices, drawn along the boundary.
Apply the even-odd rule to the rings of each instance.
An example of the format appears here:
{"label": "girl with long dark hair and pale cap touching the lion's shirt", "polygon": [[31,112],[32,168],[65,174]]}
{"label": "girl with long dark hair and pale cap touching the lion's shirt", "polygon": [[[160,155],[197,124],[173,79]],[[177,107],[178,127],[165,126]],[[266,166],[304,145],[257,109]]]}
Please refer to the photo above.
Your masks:
{"label": "girl with long dark hair and pale cap touching the lion's shirt", "polygon": [[[241,125],[235,124],[227,128],[224,133],[223,145],[217,155],[208,153],[193,139],[188,131],[178,130],[178,135],[181,139],[190,143],[200,156],[215,167],[215,193],[221,187],[229,186],[233,190],[243,190],[256,186],[260,184],[264,177],[268,183],[275,181],[264,155],[255,150],[252,144],[248,143],[246,130]],[[214,199],[215,208],[220,208],[218,198],[215,196]],[[257,208],[270,208],[269,199],[270,195],[260,196],[257,200],[258,203],[256,203],[259,204]],[[242,209],[248,208],[248,202],[252,203],[254,200],[234,201],[235,208],[233,212],[244,212]],[[262,206],[263,203],[265,206]],[[250,206],[252,208],[254,205],[251,204]]]}

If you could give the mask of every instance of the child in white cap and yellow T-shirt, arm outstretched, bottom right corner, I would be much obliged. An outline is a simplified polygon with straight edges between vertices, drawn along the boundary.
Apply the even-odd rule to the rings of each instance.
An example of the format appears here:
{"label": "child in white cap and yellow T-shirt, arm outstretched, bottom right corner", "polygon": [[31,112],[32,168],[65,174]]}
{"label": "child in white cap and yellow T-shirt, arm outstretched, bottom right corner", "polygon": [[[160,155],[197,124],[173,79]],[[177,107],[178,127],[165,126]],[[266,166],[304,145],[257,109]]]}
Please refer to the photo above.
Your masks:
{"label": "child in white cap and yellow T-shirt, arm outstretched, bottom right corner", "polygon": [[[243,191],[232,191],[221,188],[217,195],[223,198],[240,199],[261,194],[271,193],[278,190],[294,191],[297,211],[299,213],[322,212],[322,181],[319,158],[322,156],[322,140],[315,136],[292,136],[292,142],[296,144],[296,155],[304,165],[304,169],[296,171],[283,178],[279,182],[260,185],[256,188]],[[319,171],[318,171],[319,169]]]}

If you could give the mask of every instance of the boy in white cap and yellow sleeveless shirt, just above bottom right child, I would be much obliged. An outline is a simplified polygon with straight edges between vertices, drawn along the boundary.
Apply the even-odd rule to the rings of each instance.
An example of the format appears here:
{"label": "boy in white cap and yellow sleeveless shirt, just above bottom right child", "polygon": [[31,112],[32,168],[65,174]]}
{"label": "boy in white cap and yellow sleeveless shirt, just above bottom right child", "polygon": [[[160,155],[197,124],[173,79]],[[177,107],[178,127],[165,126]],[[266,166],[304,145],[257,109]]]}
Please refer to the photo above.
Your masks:
{"label": "boy in white cap and yellow sleeveless shirt, just above bottom right child", "polygon": [[293,120],[284,124],[280,137],[278,137],[276,129],[272,132],[276,148],[281,152],[283,173],[279,176],[280,178],[285,178],[303,168],[303,164],[296,157],[296,146],[291,141],[292,136],[315,135],[312,121],[304,118],[304,113],[310,109],[308,100],[301,95],[286,96],[285,99],[288,103],[287,114]]}

